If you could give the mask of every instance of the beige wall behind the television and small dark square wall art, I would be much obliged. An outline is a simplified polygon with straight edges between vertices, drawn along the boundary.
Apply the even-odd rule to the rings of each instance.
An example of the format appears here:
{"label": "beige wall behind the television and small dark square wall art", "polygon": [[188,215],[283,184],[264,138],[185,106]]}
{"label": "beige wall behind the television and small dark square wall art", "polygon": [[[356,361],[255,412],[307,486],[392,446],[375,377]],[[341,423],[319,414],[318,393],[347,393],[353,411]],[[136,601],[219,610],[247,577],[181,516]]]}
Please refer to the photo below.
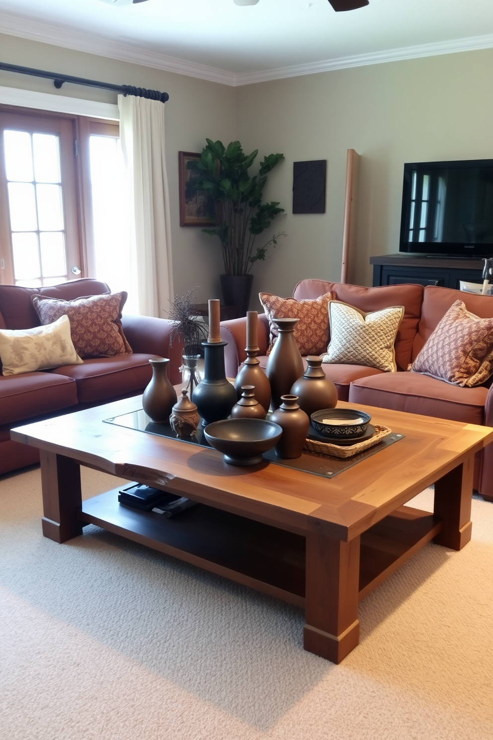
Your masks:
{"label": "beige wall behind the television and small dark square wall art", "polygon": [[[371,285],[370,255],[398,252],[404,162],[493,158],[493,50],[375,64],[241,87],[246,149],[284,152],[268,196],[289,236],[255,287],[290,295],[297,280],[339,280],[347,149],[361,155],[350,280]],[[324,215],[291,213],[293,161],[327,159]]]}

